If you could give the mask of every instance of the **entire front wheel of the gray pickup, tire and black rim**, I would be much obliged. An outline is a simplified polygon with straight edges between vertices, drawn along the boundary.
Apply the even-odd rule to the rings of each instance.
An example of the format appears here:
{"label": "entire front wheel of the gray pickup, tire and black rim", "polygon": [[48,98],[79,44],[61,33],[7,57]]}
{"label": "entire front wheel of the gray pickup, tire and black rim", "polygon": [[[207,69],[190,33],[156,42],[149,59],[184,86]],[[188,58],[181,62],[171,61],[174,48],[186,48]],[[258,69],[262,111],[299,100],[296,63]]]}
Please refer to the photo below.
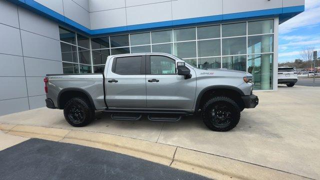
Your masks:
{"label": "entire front wheel of the gray pickup, tire and black rim", "polygon": [[239,122],[239,119],[239,106],[226,96],[213,97],[202,108],[202,120],[213,131],[231,130]]}

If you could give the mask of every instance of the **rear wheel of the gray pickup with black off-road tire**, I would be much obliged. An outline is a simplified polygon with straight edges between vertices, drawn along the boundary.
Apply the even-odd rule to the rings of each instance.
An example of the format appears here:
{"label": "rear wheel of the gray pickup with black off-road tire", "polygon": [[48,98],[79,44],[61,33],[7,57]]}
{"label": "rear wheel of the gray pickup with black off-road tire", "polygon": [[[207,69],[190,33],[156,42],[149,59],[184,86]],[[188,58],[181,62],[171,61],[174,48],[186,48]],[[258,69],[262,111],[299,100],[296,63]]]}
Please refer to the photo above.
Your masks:
{"label": "rear wheel of the gray pickup with black off-road tire", "polygon": [[[76,107],[79,111],[78,114],[81,114],[80,120],[74,120],[72,119],[72,110],[71,108]],[[91,120],[94,118],[94,109],[92,105],[84,98],[82,97],[73,97],[70,100],[68,100],[63,109],[64,118],[66,121],[75,127],[82,127],[87,125],[91,122]],[[77,116],[76,116],[77,117]]]}

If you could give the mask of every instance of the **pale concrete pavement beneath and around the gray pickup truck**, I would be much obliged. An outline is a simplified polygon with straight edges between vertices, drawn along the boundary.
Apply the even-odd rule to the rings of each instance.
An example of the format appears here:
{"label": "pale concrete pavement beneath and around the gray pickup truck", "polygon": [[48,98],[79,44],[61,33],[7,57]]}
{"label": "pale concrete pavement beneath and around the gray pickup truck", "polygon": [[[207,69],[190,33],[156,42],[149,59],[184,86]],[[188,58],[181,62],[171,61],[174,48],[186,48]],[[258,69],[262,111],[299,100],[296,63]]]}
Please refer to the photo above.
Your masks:
{"label": "pale concrete pavement beneath and around the gray pickup truck", "polygon": [[[224,170],[232,169],[232,164],[237,166],[238,162],[245,164],[237,166],[242,167],[244,172],[240,170],[241,168],[235,168],[239,171],[235,170],[231,173],[234,177],[237,174],[245,174],[246,165],[254,165],[253,169],[276,169],[276,172],[288,172],[284,175],[287,179],[290,177],[288,174],[295,174],[295,178],[304,176],[320,179],[320,164],[318,163],[320,161],[318,155],[320,152],[320,132],[318,131],[320,119],[317,111],[320,105],[318,104],[320,87],[279,86],[278,91],[259,91],[255,94],[259,96],[259,105],[254,109],[245,109],[241,113],[237,127],[228,132],[210,131],[198,116],[189,116],[178,122],[151,122],[146,119],[128,122],[111,120],[108,114],[101,112],[96,113],[96,116],[100,118],[88,126],[75,128],[67,124],[61,110],[47,108],[1,116],[0,123],[55,127],[61,130],[76,129],[77,133],[103,132],[107,135],[114,134],[123,138],[129,137],[143,142],[176,147],[178,154],[174,158],[180,160],[173,160],[174,163],[171,163],[171,166],[178,165],[178,168],[186,166],[184,164],[188,163],[185,159],[193,157],[194,159],[189,159],[194,162],[188,165],[190,169],[187,167],[184,169],[193,170],[192,172],[195,171],[195,173],[206,172],[206,174],[218,175],[221,174],[220,172],[225,172],[219,170],[217,173],[214,166],[214,164],[220,165],[217,164],[219,162],[217,158],[222,158],[230,160],[224,161]],[[20,135],[23,136],[23,134]],[[59,138],[64,137],[61,135]],[[192,153],[188,151],[187,155],[180,155],[183,150],[189,149],[192,149]],[[205,160],[211,162],[208,162],[211,170],[202,168],[201,171],[201,168],[198,167],[201,167],[200,162],[205,162]],[[198,164],[194,165],[195,163]],[[238,178],[243,177],[248,176]],[[269,178],[272,177],[269,176]]]}

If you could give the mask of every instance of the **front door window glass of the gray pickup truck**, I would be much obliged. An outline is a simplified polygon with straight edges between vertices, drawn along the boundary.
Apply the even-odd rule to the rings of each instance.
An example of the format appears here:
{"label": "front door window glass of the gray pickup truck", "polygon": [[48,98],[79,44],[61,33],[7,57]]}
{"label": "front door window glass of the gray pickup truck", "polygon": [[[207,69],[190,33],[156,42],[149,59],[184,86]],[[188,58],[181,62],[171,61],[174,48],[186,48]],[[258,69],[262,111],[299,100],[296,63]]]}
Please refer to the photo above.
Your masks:
{"label": "front door window glass of the gray pickup truck", "polygon": [[174,74],[175,61],[166,56],[151,55],[150,70],[151,74]]}

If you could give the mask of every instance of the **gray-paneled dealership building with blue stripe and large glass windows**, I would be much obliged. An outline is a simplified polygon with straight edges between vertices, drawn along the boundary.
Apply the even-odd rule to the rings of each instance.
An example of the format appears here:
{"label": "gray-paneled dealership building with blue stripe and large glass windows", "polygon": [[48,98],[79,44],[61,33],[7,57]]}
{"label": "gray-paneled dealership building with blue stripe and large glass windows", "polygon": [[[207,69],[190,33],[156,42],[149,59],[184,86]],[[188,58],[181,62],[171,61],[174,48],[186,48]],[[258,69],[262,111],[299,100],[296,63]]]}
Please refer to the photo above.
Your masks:
{"label": "gray-paneled dealership building with blue stripe and large glass windows", "polygon": [[277,89],[278,26],[304,0],[0,0],[0,115],[44,106],[47,73],[101,73],[108,55],[166,52]]}

